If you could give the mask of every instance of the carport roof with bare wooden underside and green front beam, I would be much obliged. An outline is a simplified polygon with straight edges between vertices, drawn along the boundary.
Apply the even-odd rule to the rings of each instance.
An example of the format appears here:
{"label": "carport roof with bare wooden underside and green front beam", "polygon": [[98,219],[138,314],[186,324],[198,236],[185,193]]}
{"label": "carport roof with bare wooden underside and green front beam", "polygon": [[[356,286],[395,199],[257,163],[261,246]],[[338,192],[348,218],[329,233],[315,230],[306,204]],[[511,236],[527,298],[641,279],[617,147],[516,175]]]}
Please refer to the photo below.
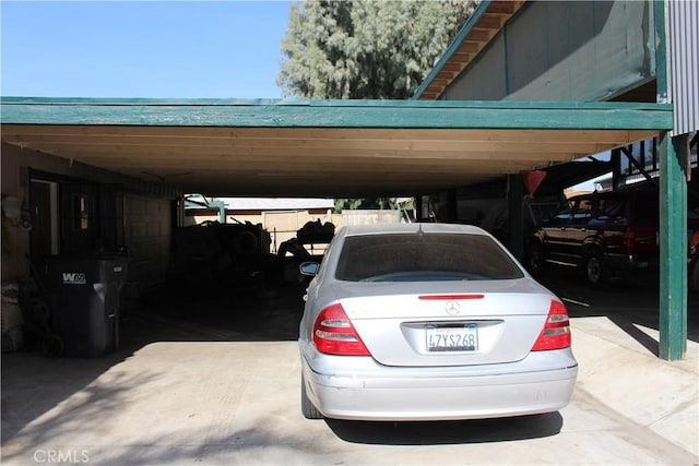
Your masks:
{"label": "carport roof with bare wooden underside and green front beam", "polygon": [[657,135],[659,104],[2,98],[2,141],[185,193],[413,195]]}

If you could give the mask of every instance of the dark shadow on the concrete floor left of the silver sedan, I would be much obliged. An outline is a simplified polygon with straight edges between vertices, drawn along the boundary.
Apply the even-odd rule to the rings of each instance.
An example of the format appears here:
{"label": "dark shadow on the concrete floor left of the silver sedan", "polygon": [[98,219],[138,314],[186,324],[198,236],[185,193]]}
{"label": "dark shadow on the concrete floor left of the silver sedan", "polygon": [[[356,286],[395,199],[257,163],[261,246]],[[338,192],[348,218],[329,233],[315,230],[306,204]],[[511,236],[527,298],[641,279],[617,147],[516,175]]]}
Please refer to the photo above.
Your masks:
{"label": "dark shadow on the concrete floor left of the silver sedan", "polygon": [[[88,405],[71,408],[78,415],[108,416],[118,408],[118,390],[130,383],[93,391],[91,384],[139,349],[157,342],[280,342],[296,340],[303,312],[298,287],[163,289],[150,295],[139,312],[122,312],[120,345],[98,358],[48,358],[40,350],[3,353],[1,365],[2,442],[13,439],[46,413],[78,392],[90,393]],[[133,384],[143,381],[133,381]],[[121,389],[118,389],[121,387]],[[94,395],[94,396],[93,396]],[[102,414],[99,414],[102,413]],[[56,420],[55,422],[64,422]],[[43,422],[50,432],[52,420]],[[46,439],[32,439],[42,441]],[[2,456],[5,456],[4,454]]]}

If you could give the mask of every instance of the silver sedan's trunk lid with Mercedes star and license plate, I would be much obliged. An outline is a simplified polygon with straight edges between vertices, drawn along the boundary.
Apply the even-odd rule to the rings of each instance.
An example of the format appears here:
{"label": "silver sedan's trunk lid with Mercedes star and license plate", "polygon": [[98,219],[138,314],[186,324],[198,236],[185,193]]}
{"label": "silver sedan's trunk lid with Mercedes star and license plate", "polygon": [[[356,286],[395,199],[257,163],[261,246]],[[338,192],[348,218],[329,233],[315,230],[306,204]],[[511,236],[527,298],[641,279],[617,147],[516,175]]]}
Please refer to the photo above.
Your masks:
{"label": "silver sedan's trunk lid with Mercedes star and license plate", "polygon": [[381,365],[401,367],[521,360],[538,337],[554,299],[526,279],[428,286],[354,283],[333,288],[344,296],[340,303],[371,356]]}

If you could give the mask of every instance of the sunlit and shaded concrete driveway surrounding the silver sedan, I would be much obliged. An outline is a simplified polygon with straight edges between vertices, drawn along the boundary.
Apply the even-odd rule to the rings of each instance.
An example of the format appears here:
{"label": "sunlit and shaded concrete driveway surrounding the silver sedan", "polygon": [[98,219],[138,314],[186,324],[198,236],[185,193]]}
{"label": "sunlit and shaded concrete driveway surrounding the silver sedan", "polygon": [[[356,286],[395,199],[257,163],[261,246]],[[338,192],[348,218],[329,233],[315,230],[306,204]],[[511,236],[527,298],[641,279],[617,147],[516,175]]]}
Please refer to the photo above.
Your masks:
{"label": "sunlit and shaded concrete driveway surrounding the silver sedan", "polygon": [[[559,413],[307,420],[293,331],[262,332],[279,307],[246,312],[258,327],[241,332],[221,325],[223,310],[188,320],[200,304],[157,319],[130,316],[123,349],[106,358],[2,355],[2,464],[699,463],[696,337],[686,360],[661,361],[651,343],[656,327],[645,325],[657,313],[652,302],[623,307],[629,298],[604,309],[574,288],[564,292],[579,302],[569,308],[580,374],[572,403]],[[227,302],[234,312],[235,301]],[[284,311],[287,325],[298,320],[295,306]]]}

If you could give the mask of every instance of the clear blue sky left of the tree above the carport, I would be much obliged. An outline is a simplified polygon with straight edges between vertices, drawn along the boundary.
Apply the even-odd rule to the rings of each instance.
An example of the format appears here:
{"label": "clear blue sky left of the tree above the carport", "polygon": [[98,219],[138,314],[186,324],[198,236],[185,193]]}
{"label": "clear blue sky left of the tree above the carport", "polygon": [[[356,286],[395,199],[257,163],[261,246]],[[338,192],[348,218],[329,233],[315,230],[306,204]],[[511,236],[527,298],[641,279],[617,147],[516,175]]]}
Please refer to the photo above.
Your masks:
{"label": "clear blue sky left of the tree above the carport", "polygon": [[2,0],[0,94],[279,98],[291,4]]}

